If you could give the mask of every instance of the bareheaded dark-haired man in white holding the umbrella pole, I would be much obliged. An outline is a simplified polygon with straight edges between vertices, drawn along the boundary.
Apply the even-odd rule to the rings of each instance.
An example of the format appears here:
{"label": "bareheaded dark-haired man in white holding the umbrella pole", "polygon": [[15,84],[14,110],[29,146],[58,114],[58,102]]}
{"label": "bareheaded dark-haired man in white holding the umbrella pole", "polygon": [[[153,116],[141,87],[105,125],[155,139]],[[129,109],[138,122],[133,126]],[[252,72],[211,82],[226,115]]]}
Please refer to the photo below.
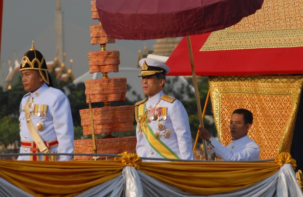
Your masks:
{"label": "bareheaded dark-haired man in white holding the umbrella pole", "polygon": [[253,123],[253,114],[247,109],[237,109],[230,119],[232,142],[226,147],[217,141],[205,128],[199,127],[199,136],[209,140],[213,151],[224,161],[260,160],[258,144],[247,133]]}

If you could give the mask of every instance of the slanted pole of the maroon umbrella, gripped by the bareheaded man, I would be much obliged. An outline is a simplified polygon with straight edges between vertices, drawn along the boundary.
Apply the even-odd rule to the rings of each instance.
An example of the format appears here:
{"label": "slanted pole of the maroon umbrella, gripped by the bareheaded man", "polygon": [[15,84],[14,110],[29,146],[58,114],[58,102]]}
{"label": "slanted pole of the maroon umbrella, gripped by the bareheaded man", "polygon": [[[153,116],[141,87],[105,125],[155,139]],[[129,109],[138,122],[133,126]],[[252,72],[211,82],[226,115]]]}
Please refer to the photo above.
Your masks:
{"label": "slanted pole of the maroon umbrella, gripped by the bareheaded man", "polygon": [[[199,90],[198,90],[198,85],[197,85],[196,76],[195,76],[195,65],[194,65],[191,38],[190,38],[190,36],[186,36],[186,39],[187,39],[187,46],[188,46],[188,51],[189,51],[190,60],[191,60],[192,74],[193,74],[193,80],[194,80],[193,82],[194,82],[194,88],[195,88],[195,100],[197,102],[199,122],[200,122],[200,126],[204,128],[201,103],[200,103],[200,97],[199,97]],[[205,159],[208,160],[207,144],[204,139],[202,139],[202,142],[203,142],[203,147],[204,147]]]}

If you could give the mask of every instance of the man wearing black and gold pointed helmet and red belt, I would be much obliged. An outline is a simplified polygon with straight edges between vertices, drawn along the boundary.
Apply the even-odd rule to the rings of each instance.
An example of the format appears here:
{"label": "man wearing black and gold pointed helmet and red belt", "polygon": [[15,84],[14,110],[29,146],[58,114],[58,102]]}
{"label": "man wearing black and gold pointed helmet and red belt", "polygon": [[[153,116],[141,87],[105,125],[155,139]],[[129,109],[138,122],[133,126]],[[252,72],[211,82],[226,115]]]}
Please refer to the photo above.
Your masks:
{"label": "man wearing black and gold pointed helmet and red belt", "polygon": [[[22,58],[20,153],[73,153],[74,130],[68,98],[53,88],[43,55],[34,44]],[[18,160],[71,160],[71,156],[19,156]]]}

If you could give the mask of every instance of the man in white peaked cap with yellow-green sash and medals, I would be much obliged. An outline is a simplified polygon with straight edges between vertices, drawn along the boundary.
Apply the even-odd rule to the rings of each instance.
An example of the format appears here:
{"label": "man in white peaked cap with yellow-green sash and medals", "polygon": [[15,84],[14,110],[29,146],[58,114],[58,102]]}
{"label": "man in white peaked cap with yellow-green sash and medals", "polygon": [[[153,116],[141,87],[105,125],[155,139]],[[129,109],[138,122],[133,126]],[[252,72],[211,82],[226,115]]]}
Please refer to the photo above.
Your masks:
{"label": "man in white peaked cap with yellow-green sash and medals", "polygon": [[179,100],[162,91],[170,68],[151,58],[141,59],[139,65],[143,93],[148,98],[135,104],[137,154],[148,158],[193,159],[187,112]]}

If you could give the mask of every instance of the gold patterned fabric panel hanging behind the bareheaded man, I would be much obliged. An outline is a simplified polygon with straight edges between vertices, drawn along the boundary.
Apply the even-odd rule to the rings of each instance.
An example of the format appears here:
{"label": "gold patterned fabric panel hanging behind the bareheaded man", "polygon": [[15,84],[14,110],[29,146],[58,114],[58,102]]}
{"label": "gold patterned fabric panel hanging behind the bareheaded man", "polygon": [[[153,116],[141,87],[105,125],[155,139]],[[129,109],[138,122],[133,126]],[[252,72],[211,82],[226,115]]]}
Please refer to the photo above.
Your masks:
{"label": "gold patterned fabric panel hanging behind the bareheaded man", "polygon": [[260,146],[260,159],[290,152],[303,76],[217,76],[209,78],[220,142],[231,142],[229,121],[235,109],[253,113],[248,136]]}

